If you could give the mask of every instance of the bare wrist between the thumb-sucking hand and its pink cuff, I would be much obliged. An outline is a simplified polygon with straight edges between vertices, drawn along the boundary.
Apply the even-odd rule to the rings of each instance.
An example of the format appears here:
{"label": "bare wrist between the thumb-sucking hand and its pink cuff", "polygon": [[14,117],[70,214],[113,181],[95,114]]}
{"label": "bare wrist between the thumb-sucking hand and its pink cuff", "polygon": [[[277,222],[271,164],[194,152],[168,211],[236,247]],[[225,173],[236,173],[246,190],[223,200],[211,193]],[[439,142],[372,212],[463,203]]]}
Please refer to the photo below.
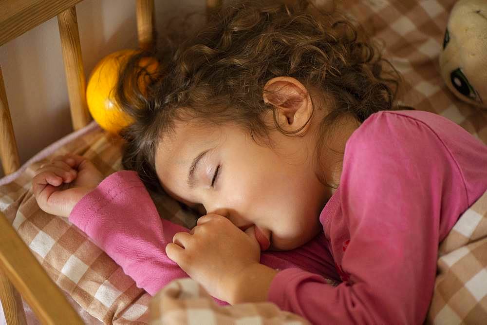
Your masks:
{"label": "bare wrist between the thumb-sucking hand and its pink cuff", "polygon": [[255,263],[244,268],[230,286],[231,305],[267,301],[269,288],[278,271],[263,264]]}

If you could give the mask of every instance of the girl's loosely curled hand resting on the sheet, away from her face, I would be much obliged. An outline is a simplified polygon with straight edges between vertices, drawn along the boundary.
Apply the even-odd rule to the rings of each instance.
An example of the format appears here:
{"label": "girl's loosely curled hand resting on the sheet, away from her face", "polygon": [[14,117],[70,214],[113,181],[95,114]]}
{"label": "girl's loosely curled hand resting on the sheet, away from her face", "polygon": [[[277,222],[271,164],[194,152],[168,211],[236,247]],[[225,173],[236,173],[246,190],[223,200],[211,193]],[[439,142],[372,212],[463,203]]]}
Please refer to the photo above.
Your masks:
{"label": "girl's loosely curled hand resting on the sheet, away from her face", "polygon": [[76,203],[104,178],[88,159],[73,154],[57,156],[36,172],[32,191],[39,208],[63,217],[69,217]]}

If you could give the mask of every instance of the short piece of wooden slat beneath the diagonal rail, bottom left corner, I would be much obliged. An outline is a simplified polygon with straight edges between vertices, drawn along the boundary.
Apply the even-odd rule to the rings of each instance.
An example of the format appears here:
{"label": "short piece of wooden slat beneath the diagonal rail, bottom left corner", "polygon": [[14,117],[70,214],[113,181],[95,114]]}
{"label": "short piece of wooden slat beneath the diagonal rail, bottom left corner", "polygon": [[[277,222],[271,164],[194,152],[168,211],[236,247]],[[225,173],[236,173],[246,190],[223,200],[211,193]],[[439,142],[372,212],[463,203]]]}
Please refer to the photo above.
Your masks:
{"label": "short piece of wooden slat beneath the diagonal rail, bottom left corner", "polygon": [[0,299],[7,324],[27,324],[22,298],[2,271],[0,271]]}

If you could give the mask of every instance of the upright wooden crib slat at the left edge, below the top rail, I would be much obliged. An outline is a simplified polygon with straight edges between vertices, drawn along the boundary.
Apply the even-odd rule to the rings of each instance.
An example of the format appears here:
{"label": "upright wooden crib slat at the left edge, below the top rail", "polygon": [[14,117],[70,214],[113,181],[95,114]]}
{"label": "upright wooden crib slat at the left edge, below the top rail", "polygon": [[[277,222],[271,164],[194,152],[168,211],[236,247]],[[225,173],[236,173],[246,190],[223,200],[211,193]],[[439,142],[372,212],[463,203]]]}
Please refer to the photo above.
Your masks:
{"label": "upright wooden crib slat at the left edge, below the top rail", "polygon": [[8,175],[20,167],[19,151],[15,141],[14,127],[8,109],[7,94],[0,66],[0,159],[3,172]]}

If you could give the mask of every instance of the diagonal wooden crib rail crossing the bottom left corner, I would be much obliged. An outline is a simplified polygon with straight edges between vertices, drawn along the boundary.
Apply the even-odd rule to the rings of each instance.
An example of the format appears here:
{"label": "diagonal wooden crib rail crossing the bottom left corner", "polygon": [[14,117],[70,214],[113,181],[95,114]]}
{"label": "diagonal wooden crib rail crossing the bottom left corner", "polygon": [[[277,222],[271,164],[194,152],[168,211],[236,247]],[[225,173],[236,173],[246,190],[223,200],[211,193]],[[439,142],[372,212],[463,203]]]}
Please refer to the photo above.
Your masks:
{"label": "diagonal wooden crib rail crossing the bottom left corner", "polygon": [[0,212],[0,267],[43,324],[83,324],[59,287]]}

